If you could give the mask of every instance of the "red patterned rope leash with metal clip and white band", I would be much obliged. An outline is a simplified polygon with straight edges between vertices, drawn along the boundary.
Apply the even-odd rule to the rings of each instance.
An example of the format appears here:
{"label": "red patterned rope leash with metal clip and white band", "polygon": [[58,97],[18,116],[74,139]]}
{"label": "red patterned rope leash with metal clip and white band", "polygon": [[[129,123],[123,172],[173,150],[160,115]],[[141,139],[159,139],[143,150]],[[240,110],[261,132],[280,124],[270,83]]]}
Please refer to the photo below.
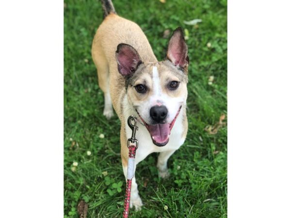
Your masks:
{"label": "red patterned rope leash with metal clip and white band", "polygon": [[135,152],[136,152],[136,149],[138,148],[138,140],[135,139],[135,133],[136,133],[136,130],[138,130],[138,126],[136,125],[136,123],[137,123],[136,117],[129,116],[128,125],[132,130],[132,134],[131,134],[131,138],[128,139],[129,160],[128,160],[127,183],[126,183],[126,191],[125,191],[123,218],[129,217],[131,181],[134,175]]}

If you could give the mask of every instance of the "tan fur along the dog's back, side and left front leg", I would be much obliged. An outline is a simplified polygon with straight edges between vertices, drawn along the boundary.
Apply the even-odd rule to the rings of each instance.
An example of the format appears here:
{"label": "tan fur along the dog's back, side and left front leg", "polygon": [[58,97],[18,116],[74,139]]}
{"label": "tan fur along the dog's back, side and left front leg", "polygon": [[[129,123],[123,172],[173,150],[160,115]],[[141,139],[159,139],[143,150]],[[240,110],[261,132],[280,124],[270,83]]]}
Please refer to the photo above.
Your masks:
{"label": "tan fur along the dog's back, side and left front leg", "polygon": [[[93,40],[92,57],[97,66],[98,83],[100,89],[107,93],[106,82],[110,84],[110,95],[120,121],[121,121],[121,154],[127,162],[127,139],[125,121],[122,116],[122,99],[125,95],[124,78],[118,73],[115,51],[117,45],[126,43],[134,47],[143,62],[157,62],[149,45],[146,35],[141,28],[132,21],[116,14],[107,16],[99,26]],[[108,79],[109,78],[109,79]]]}

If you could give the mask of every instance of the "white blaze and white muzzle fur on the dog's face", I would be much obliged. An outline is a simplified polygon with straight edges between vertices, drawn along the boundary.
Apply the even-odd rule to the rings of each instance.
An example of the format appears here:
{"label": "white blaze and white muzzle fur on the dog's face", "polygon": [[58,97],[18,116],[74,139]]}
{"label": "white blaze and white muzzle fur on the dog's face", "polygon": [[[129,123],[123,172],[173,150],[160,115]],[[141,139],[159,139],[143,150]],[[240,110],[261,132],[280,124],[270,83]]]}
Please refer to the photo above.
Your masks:
{"label": "white blaze and white muzzle fur on the dog's face", "polygon": [[156,105],[163,105],[168,109],[166,123],[171,123],[174,120],[179,107],[183,104],[184,97],[170,97],[167,93],[162,92],[162,86],[165,84],[162,83],[156,66],[153,66],[152,75],[153,81],[152,87],[150,87],[150,89],[152,89],[152,95],[139,106],[138,111],[145,122],[151,124],[152,120],[149,115],[149,110]]}

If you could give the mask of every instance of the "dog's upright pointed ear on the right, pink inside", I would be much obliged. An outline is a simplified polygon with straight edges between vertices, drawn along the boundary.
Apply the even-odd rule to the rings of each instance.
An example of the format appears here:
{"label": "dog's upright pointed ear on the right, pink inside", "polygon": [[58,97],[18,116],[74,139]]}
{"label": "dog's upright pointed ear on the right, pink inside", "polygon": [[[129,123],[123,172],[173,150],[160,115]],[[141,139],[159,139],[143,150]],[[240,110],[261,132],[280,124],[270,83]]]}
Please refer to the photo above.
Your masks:
{"label": "dog's upright pointed ear on the right, pink inside", "polygon": [[178,27],[169,41],[167,59],[182,70],[188,70],[188,47],[184,39],[182,28]]}

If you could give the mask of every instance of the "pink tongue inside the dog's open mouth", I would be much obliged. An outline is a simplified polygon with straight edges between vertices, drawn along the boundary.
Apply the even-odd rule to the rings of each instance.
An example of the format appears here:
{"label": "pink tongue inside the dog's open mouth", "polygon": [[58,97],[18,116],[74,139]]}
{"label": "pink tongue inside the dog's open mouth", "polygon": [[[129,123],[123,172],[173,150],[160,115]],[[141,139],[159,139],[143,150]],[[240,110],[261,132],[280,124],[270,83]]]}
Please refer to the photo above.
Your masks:
{"label": "pink tongue inside the dog's open mouth", "polygon": [[169,138],[170,124],[148,125],[148,131],[156,142],[162,143]]}

